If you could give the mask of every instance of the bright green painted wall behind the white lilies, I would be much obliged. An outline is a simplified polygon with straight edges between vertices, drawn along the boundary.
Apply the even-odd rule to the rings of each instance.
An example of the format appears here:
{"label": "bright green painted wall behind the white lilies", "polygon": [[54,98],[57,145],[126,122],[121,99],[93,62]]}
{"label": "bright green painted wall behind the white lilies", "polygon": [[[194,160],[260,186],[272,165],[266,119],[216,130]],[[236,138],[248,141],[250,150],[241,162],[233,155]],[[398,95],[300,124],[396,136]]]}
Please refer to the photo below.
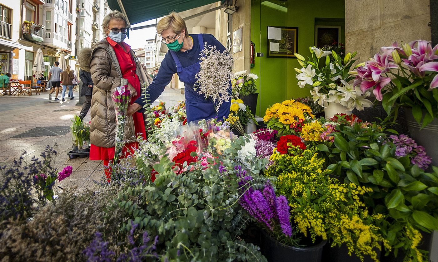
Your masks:
{"label": "bright green painted wall behind the white lilies", "polygon": [[[255,52],[264,53],[264,57],[255,58],[252,73],[259,75],[257,115],[265,115],[266,108],[290,98],[298,98],[309,94],[309,88],[297,85],[294,67],[300,68],[294,58],[267,58],[268,26],[298,27],[298,53],[310,56],[309,46],[314,45],[315,18],[344,18],[344,0],[288,0],[287,13],[261,5],[265,0],[251,1],[251,41],[255,44]],[[281,2],[272,0],[271,2]],[[339,22],[338,22],[339,23]],[[342,23],[340,23],[342,24]],[[333,25],[337,25],[333,23]],[[344,26],[341,28],[341,42],[344,41]]]}

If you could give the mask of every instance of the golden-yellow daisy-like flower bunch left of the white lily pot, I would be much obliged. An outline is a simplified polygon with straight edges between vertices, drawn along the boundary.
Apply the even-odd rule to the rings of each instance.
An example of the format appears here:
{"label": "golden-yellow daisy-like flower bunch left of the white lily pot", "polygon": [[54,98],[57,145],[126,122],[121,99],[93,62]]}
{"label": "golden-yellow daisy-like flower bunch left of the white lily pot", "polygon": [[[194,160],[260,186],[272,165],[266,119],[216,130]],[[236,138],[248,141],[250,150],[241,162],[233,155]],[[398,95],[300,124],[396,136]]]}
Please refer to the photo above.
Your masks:
{"label": "golden-yellow daisy-like flower bunch left of the white lily pot", "polygon": [[284,125],[291,125],[297,122],[298,119],[305,119],[306,117],[314,117],[311,108],[290,99],[283,101],[281,104],[276,103],[266,109],[263,121],[269,122],[271,120],[277,120]]}

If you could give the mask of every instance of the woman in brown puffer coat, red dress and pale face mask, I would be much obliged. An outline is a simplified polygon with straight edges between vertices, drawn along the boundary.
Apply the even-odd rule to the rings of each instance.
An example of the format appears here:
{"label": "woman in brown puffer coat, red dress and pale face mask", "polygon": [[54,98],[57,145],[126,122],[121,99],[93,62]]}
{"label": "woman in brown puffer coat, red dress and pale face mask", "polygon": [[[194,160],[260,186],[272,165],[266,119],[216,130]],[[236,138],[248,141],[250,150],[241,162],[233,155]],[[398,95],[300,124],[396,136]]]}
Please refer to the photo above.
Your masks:
{"label": "woman in brown puffer coat, red dress and pale face mask", "polygon": [[[107,14],[102,21],[106,38],[93,45],[91,54],[91,76],[94,83],[91,100],[90,160],[103,160],[108,167],[114,159],[116,143],[116,112],[111,99],[116,87],[127,86],[131,92],[131,103],[140,97],[142,84],[148,83],[146,72],[134,51],[124,41],[127,19],[119,11]],[[145,118],[142,113],[127,117],[124,135],[125,146],[122,157],[133,154],[138,148],[137,136],[146,139]],[[108,180],[111,169],[105,168]]]}

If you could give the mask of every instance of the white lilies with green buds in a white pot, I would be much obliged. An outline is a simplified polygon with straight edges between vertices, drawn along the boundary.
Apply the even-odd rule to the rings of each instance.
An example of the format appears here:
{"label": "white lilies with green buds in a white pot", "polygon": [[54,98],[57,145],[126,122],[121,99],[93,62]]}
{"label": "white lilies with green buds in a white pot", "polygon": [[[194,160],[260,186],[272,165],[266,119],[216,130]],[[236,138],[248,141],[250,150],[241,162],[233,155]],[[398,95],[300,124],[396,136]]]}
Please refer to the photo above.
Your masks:
{"label": "white lilies with green buds in a white pot", "polygon": [[350,83],[354,76],[350,69],[356,60],[356,52],[347,53],[342,59],[334,50],[310,47],[311,57],[305,59],[300,54],[294,54],[301,69],[297,71],[298,85],[301,88],[310,87],[315,103],[323,106],[325,116],[332,117],[336,113],[351,114],[354,108],[364,110],[372,103],[366,99],[370,94],[354,88]]}

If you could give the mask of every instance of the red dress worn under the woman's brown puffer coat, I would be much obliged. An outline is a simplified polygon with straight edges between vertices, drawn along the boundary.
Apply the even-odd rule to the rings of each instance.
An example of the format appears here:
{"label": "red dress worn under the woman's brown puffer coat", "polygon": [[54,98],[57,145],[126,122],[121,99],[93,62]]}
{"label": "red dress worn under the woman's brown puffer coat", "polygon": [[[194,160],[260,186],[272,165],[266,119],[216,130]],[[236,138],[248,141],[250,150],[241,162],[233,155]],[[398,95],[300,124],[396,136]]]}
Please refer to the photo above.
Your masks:
{"label": "red dress worn under the woman's brown puffer coat", "polygon": [[[141,84],[138,79],[137,74],[135,74],[136,64],[134,59],[130,54],[131,46],[122,42],[122,45],[125,47],[126,51],[118,45],[116,42],[111,40],[111,38],[107,37],[106,40],[113,47],[114,52],[116,52],[117,60],[120,64],[120,70],[122,71],[123,78],[128,80],[128,83],[131,84],[135,91],[137,91],[137,95],[131,98],[131,104],[134,103],[135,99],[140,97],[141,93]],[[143,114],[139,112],[135,112],[132,115],[134,119],[134,128],[135,134],[141,135],[143,139],[146,139],[146,131],[145,131],[145,122],[143,120]],[[134,153],[134,150],[138,148],[138,144],[136,142],[127,143],[122,150],[122,157],[126,157],[130,154]],[[103,164],[107,166],[109,161],[114,159],[115,149],[114,147],[98,147],[93,144],[90,146],[90,160],[103,160]]]}

